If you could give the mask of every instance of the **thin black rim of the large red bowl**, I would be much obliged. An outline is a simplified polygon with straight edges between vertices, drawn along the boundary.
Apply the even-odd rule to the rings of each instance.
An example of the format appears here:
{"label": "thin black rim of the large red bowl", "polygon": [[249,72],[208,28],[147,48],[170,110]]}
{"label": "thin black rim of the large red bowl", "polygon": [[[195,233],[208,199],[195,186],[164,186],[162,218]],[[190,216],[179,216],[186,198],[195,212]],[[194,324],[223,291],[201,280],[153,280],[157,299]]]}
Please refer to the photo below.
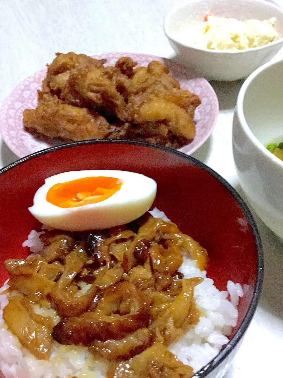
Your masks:
{"label": "thin black rim of the large red bowl", "polygon": [[73,143],[67,143],[60,146],[55,147],[49,147],[44,150],[40,150],[38,152],[34,152],[30,155],[27,155],[21,159],[18,159],[14,161],[13,163],[9,164],[6,167],[3,167],[0,169],[0,175],[4,174],[8,170],[17,167],[18,165],[36,158],[37,156],[47,155],[48,153],[52,153],[57,150],[63,150],[66,148],[72,148],[77,146],[83,146],[85,144],[132,144],[136,146],[143,146],[147,148],[157,149],[161,151],[165,151],[168,153],[171,153],[172,155],[176,155],[186,161],[189,161],[190,163],[196,165],[197,167],[200,167],[201,169],[206,170],[210,175],[215,177],[220,183],[229,191],[229,193],[234,197],[234,199],[239,204],[240,208],[242,209],[243,213],[245,214],[246,219],[248,220],[249,226],[251,227],[252,234],[254,236],[254,243],[255,247],[257,248],[257,278],[255,282],[255,289],[254,293],[252,295],[251,303],[249,304],[248,311],[241,322],[237,332],[232,337],[231,340],[229,340],[228,344],[225,345],[223,350],[221,350],[216,357],[214,357],[206,366],[204,366],[201,370],[198,370],[198,372],[195,373],[195,378],[205,378],[211,373],[218,365],[220,365],[232,352],[232,350],[237,346],[241,338],[243,337],[244,333],[246,332],[247,328],[249,327],[249,324],[251,323],[251,320],[254,316],[255,310],[257,308],[257,304],[260,298],[260,293],[263,285],[263,249],[261,246],[261,240],[260,235],[257,229],[257,225],[255,223],[254,217],[252,216],[250,210],[248,209],[248,206],[243,201],[241,196],[238,194],[238,192],[223,178],[221,177],[217,172],[215,172],[210,167],[206,166],[204,163],[201,163],[201,161],[193,158],[192,156],[186,155],[183,152],[180,152],[178,150],[174,150],[169,147],[164,146],[157,146],[156,144],[152,143],[145,143],[141,141],[128,141],[128,140],[121,140],[121,139],[89,139],[86,141],[79,141],[79,142],[73,142]]}

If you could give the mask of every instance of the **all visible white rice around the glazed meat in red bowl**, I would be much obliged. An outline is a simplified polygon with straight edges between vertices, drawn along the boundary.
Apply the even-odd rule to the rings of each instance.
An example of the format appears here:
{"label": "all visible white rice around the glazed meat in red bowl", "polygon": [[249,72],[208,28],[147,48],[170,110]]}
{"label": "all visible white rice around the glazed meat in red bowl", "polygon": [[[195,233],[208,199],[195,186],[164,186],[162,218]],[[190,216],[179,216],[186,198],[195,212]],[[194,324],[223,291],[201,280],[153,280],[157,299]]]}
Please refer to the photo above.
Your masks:
{"label": "all visible white rice around the glazed meat in red bowl", "polygon": [[[152,216],[168,220],[163,212],[154,209]],[[28,246],[32,253],[40,253],[43,244],[39,239],[42,232],[32,230],[23,246]],[[206,271],[200,271],[196,261],[184,255],[180,266],[184,278],[202,277],[203,282],[194,289],[194,300],[204,316],[198,324],[192,326],[178,342],[171,344],[169,350],[184,364],[192,366],[194,372],[209,363],[227,344],[232,328],[237,324],[237,305],[243,290],[239,283],[228,281],[227,291],[219,291],[212,279],[206,277]],[[7,281],[8,282],[8,281]],[[0,289],[8,288],[7,282]],[[79,293],[89,289],[88,284],[80,285]],[[78,295],[80,295],[78,294]],[[228,299],[230,297],[230,300]],[[0,370],[5,378],[104,378],[108,363],[96,361],[86,347],[60,345],[54,341],[51,358],[43,361],[35,358],[23,348],[17,337],[9,332],[3,321],[3,308],[8,304],[6,295],[0,295]],[[35,306],[35,312],[43,316],[52,316],[54,324],[60,317],[54,310]]]}

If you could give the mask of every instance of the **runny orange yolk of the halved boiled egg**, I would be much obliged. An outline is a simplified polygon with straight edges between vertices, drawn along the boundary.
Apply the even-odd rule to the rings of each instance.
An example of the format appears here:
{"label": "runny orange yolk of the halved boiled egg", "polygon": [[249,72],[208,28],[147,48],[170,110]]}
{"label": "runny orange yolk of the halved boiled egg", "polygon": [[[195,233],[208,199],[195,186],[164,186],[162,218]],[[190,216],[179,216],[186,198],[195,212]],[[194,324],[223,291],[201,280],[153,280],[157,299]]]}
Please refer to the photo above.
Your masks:
{"label": "runny orange yolk of the halved boiled egg", "polygon": [[84,177],[53,185],[46,201],[60,208],[74,208],[106,200],[116,193],[123,181],[114,177]]}

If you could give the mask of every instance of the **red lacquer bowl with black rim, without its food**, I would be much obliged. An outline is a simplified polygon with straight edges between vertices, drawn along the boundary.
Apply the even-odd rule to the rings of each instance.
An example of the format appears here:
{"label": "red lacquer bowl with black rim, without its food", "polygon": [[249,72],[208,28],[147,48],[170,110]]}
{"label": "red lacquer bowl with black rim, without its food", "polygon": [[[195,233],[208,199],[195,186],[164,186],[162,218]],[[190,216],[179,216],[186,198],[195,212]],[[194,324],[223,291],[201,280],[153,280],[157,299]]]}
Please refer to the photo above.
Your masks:
{"label": "red lacquer bowl with black rim, without its food", "polygon": [[184,153],[140,142],[83,141],[36,152],[0,170],[0,284],[8,278],[3,261],[28,256],[22,243],[32,229],[40,230],[28,211],[38,187],[46,177],[84,169],[128,170],[153,178],[158,187],[154,206],[207,249],[207,275],[217,288],[226,290],[230,279],[246,285],[229,344],[195,376],[224,373],[257,306],[263,254],[255,221],[241,197],[213,170]]}

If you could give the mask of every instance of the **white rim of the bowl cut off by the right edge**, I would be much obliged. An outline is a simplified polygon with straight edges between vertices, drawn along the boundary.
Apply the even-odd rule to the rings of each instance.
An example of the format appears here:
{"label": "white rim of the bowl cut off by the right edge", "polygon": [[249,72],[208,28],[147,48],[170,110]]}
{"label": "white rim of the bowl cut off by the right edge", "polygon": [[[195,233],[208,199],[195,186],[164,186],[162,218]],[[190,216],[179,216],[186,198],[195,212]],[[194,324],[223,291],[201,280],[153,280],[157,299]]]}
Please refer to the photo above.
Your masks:
{"label": "white rim of the bowl cut off by the right edge", "polygon": [[239,122],[241,124],[241,127],[243,128],[243,131],[245,132],[246,136],[251,140],[252,144],[259,149],[269,160],[271,160],[273,163],[278,164],[279,166],[283,167],[283,161],[277,158],[272,152],[270,152],[254,135],[252,130],[249,128],[248,122],[246,121],[245,113],[244,113],[244,102],[245,102],[245,96],[246,91],[248,90],[249,86],[252,84],[254,79],[259,76],[264,71],[268,70],[270,67],[275,66],[277,64],[283,64],[283,59],[276,60],[275,62],[268,62],[261,67],[257,68],[253,73],[251,73],[247,79],[244,81],[243,85],[240,88],[240,91],[238,93],[237,98],[237,104],[236,104],[236,113],[239,119]]}

